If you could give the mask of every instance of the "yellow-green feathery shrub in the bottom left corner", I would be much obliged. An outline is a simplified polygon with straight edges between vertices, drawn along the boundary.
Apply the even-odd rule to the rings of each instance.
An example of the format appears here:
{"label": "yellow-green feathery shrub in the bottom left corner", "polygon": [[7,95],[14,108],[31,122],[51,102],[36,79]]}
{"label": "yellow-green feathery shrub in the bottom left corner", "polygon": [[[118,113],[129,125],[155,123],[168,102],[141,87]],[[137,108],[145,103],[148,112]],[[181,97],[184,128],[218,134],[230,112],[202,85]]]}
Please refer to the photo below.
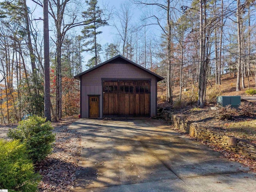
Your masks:
{"label": "yellow-green feathery shrub in the bottom left corner", "polygon": [[37,191],[39,174],[34,172],[26,145],[19,140],[0,140],[0,189],[9,192]]}

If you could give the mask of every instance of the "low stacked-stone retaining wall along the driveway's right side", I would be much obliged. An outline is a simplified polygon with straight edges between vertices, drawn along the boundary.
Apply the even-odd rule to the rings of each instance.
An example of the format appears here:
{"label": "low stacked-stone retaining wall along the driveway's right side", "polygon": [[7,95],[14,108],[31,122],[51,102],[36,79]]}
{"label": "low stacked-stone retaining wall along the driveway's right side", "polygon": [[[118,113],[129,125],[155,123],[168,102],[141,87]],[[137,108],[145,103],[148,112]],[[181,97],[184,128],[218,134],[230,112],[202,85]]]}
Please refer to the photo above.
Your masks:
{"label": "low stacked-stone retaining wall along the driveway's right side", "polygon": [[186,120],[183,120],[178,115],[172,114],[172,112],[169,111],[163,111],[162,115],[164,120],[171,122],[176,129],[192,137],[211,142],[219,147],[232,150],[233,152],[243,154],[256,160],[256,144],[208,130],[207,128],[199,126],[197,123],[186,122]]}

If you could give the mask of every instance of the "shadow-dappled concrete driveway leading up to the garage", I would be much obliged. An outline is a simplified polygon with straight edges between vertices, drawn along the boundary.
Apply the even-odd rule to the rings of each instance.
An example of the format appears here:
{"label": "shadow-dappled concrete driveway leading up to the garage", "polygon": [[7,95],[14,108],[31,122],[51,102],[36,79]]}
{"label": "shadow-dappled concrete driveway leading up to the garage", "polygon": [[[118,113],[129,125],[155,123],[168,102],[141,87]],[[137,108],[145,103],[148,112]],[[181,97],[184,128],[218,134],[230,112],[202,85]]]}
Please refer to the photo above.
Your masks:
{"label": "shadow-dappled concrete driveway leading up to the garage", "polygon": [[256,175],[160,120],[81,119],[82,154],[73,192],[255,191]]}

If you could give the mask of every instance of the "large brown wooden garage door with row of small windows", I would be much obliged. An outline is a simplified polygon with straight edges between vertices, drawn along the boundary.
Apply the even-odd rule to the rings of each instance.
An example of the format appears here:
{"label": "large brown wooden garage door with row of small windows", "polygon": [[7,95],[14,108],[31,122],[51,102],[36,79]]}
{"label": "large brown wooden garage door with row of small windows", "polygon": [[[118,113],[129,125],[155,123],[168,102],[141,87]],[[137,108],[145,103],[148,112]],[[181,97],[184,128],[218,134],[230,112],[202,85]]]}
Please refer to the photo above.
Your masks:
{"label": "large brown wooden garage door with row of small windows", "polygon": [[104,81],[104,116],[150,116],[149,81]]}

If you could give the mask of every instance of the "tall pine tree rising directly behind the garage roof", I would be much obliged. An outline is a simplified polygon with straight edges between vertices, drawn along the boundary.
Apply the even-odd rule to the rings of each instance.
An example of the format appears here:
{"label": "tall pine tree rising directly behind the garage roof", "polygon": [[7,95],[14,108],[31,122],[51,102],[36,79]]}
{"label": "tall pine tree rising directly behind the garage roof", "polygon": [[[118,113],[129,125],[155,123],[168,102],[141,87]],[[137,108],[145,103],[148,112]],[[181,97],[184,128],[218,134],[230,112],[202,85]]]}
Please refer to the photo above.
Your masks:
{"label": "tall pine tree rising directly behind the garage roof", "polygon": [[84,17],[84,20],[86,20],[86,22],[92,23],[84,26],[84,29],[82,30],[84,38],[89,39],[84,43],[84,46],[86,46],[86,51],[94,53],[95,65],[97,65],[98,47],[100,46],[100,44],[97,44],[96,36],[102,33],[102,31],[97,31],[97,29],[99,27],[108,25],[108,23],[106,22],[106,20],[102,19],[104,13],[103,10],[101,10],[100,7],[97,5],[98,0],[86,1],[86,4],[89,7],[86,11],[82,12],[82,16]]}

